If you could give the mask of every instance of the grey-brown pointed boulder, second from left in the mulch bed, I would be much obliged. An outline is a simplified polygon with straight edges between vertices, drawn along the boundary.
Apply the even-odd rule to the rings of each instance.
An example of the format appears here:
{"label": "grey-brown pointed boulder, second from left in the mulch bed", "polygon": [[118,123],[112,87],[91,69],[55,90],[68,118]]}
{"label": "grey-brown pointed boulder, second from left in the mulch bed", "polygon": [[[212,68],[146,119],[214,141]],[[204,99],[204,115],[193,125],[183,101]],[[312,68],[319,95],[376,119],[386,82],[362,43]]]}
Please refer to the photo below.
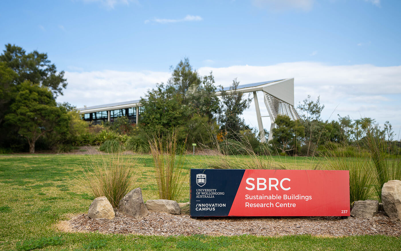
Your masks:
{"label": "grey-brown pointed boulder, second from left in the mulch bed", "polygon": [[140,188],[135,188],[126,194],[124,198],[118,202],[117,210],[136,219],[149,214],[148,209],[144,204],[142,190]]}

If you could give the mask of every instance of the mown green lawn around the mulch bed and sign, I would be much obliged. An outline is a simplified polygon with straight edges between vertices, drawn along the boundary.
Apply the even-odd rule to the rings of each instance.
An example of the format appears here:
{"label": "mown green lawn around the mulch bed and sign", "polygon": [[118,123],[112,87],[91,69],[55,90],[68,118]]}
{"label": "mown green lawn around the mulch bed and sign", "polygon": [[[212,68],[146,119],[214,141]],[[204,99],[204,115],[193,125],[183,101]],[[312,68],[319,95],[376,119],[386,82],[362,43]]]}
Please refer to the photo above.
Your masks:
{"label": "mown green lawn around the mulch bed and sign", "polygon": [[[144,237],[99,233],[62,233],[55,228],[69,215],[87,213],[91,196],[75,186],[81,166],[99,155],[0,155],[0,249],[29,250],[401,250],[399,237]],[[188,156],[184,168],[201,168],[211,157]],[[246,158],[246,157],[240,157]],[[274,157],[290,169],[312,169],[326,159]],[[353,161],[353,159],[350,159]],[[157,199],[153,163],[149,155],[138,156],[138,186],[144,200]],[[189,180],[189,179],[186,179]],[[181,202],[189,200],[188,182]],[[22,243],[22,245],[21,245]]]}

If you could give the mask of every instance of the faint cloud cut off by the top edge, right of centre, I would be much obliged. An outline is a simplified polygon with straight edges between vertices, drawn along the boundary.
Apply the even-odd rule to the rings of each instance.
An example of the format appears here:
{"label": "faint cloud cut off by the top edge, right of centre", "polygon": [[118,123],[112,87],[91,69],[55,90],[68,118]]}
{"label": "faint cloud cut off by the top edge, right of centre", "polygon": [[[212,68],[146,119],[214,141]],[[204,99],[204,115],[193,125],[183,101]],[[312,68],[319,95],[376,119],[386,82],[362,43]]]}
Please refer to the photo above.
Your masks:
{"label": "faint cloud cut off by the top edge, right of centre", "polygon": [[252,0],[252,4],[258,8],[269,8],[272,10],[311,10],[314,0]]}

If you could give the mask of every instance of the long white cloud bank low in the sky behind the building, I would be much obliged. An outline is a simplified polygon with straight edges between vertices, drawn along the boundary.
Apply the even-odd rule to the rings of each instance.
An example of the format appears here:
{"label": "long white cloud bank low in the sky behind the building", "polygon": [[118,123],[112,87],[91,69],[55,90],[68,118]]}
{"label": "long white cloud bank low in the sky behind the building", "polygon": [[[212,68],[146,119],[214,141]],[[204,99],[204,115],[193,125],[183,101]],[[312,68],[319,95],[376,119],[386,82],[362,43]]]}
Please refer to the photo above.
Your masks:
{"label": "long white cloud bank low in the sky behind the building", "polygon": [[[384,123],[389,120],[395,131],[401,127],[401,65],[379,67],[375,65],[327,65],[319,62],[279,63],[267,66],[235,65],[230,67],[201,67],[201,76],[213,71],[217,85],[229,86],[234,78],[240,84],[266,80],[294,78],[295,103],[307,95],[312,100],[320,96],[325,105],[324,119],[367,116]],[[136,100],[153,88],[156,83],[167,82],[169,72],[156,71],[67,71],[65,95],[58,102],[69,102],[78,107],[93,106],[128,100]],[[267,115],[263,96],[258,93],[262,116]],[[254,103],[243,117],[248,124],[257,127]],[[269,129],[269,118],[263,118]]]}

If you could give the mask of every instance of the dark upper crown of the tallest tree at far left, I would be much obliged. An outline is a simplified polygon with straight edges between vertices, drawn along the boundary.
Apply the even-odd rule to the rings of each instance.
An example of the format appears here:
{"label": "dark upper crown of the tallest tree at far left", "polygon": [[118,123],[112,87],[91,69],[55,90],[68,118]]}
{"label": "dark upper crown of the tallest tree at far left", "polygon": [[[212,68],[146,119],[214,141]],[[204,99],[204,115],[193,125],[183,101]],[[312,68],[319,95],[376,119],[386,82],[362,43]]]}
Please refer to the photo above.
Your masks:
{"label": "dark upper crown of the tallest tree at far left", "polygon": [[49,87],[54,96],[63,95],[63,88],[67,87],[67,80],[64,78],[64,71],[57,72],[55,64],[47,59],[47,53],[26,51],[16,45],[7,44],[3,54],[0,55],[0,62],[17,73],[15,84],[21,84],[28,80],[40,86]]}

